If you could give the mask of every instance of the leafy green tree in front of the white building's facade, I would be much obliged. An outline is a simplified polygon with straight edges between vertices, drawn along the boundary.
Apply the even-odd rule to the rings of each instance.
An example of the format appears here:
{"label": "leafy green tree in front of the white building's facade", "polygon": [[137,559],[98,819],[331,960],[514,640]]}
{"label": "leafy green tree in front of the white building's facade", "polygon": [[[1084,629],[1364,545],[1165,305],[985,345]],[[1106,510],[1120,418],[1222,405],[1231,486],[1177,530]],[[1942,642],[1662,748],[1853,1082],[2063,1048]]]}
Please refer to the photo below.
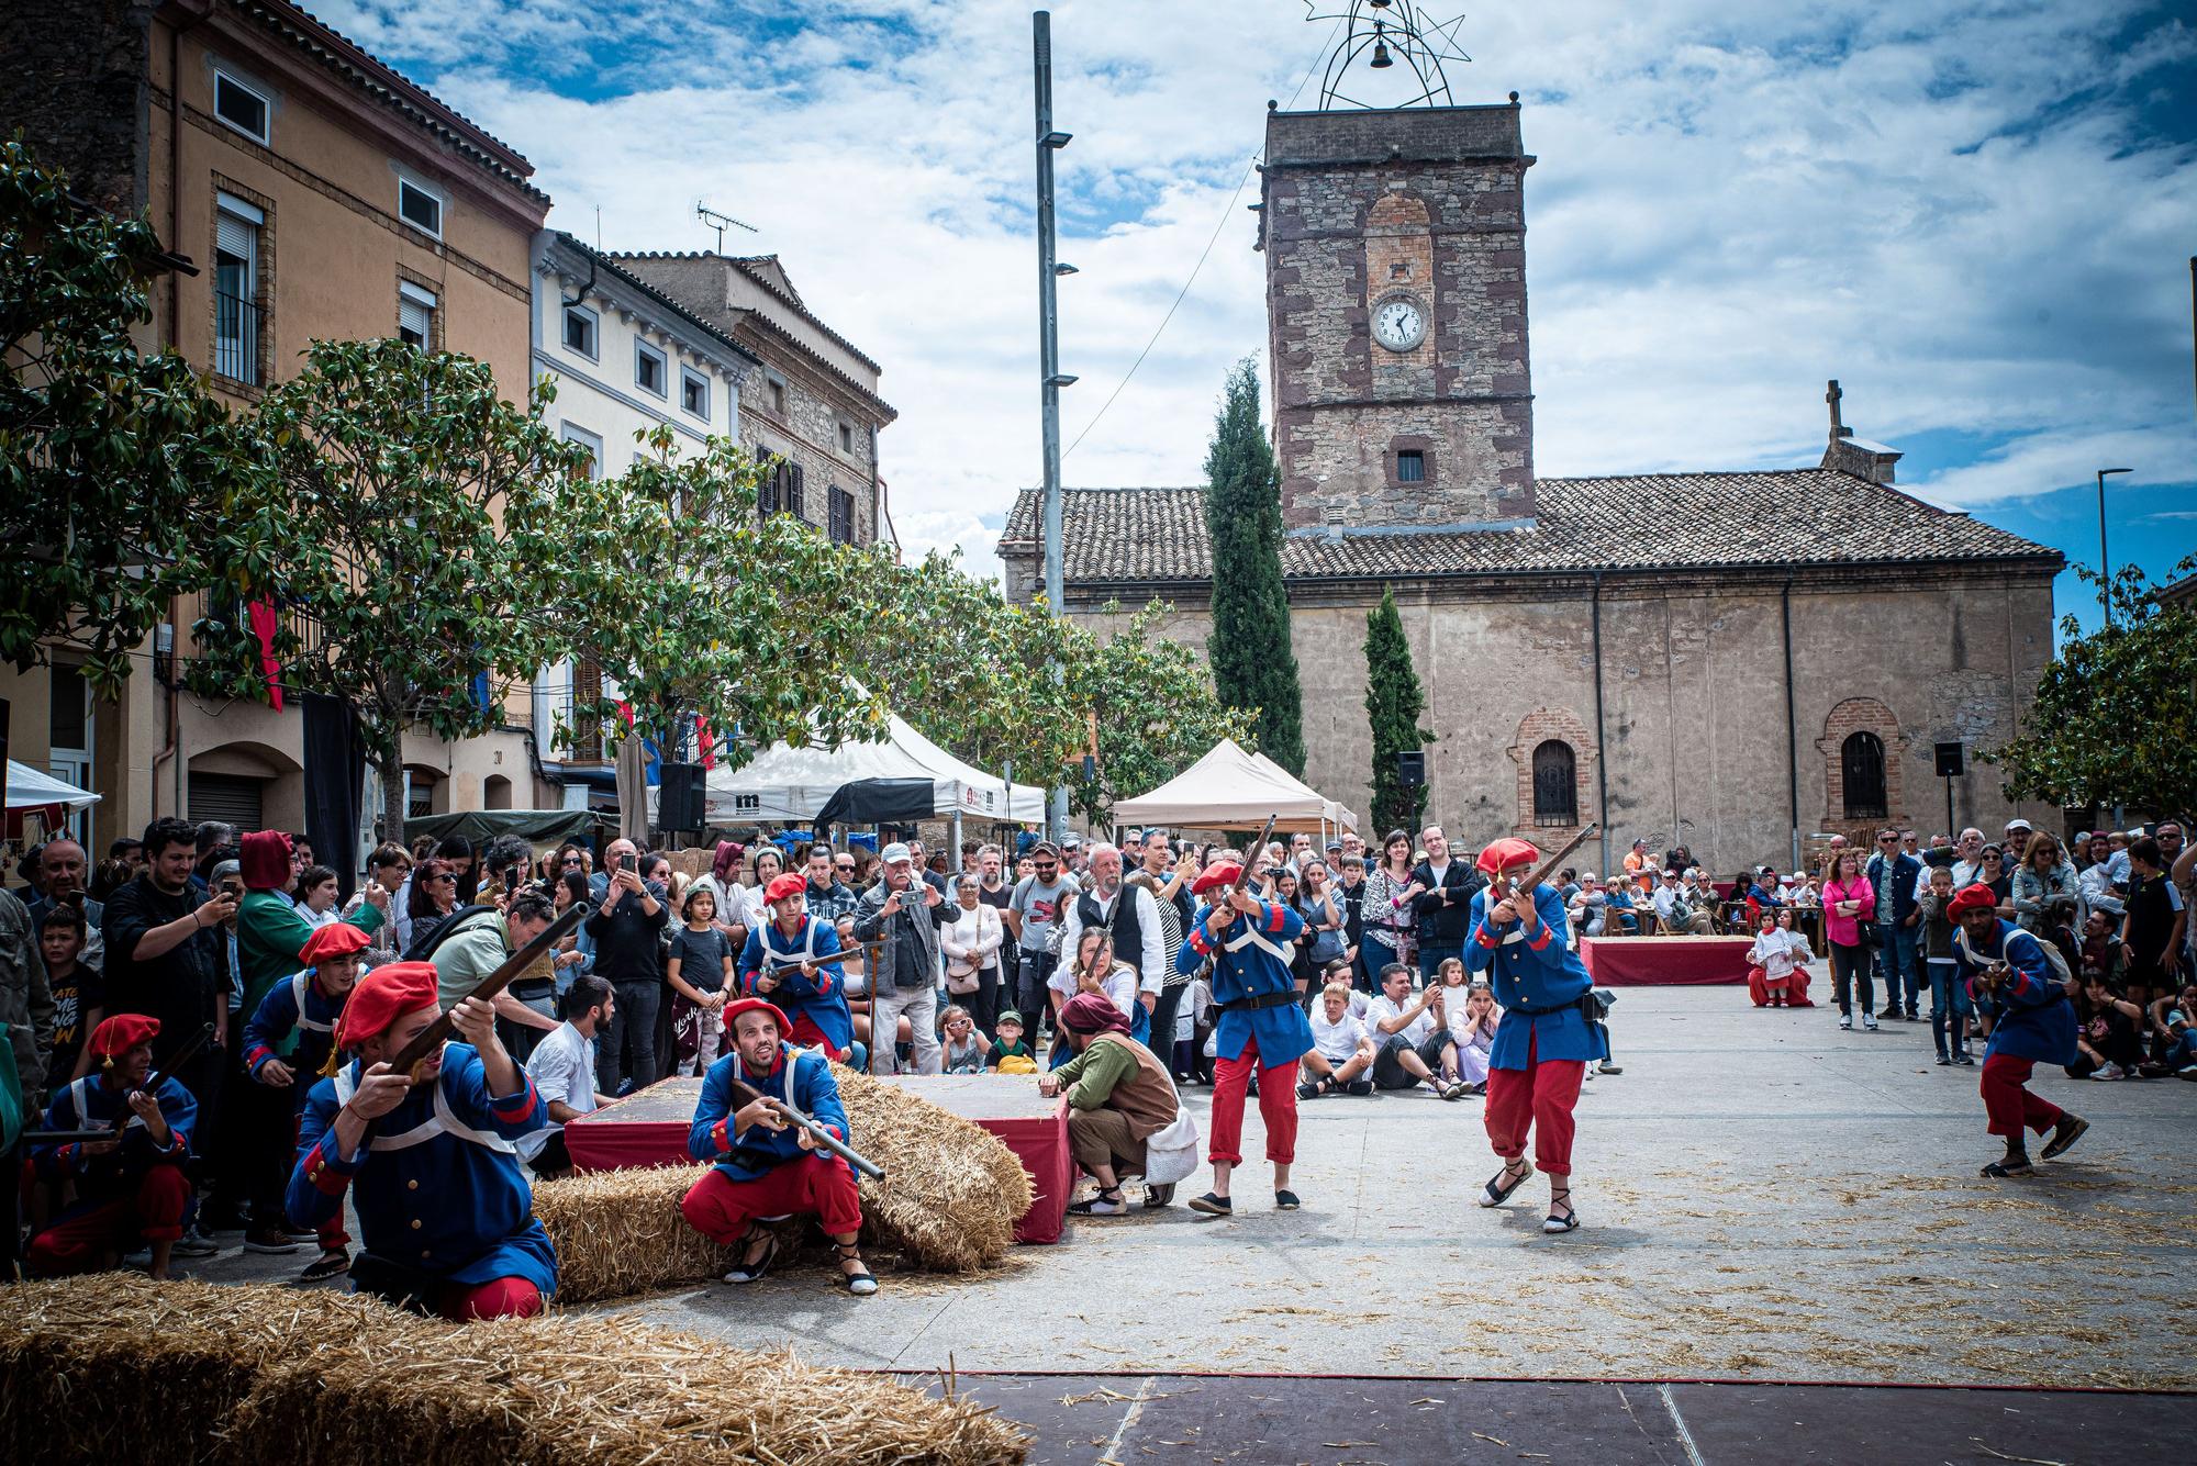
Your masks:
{"label": "leafy green tree in front of the white building's facade", "polygon": [[677,746],[699,715],[732,766],[773,742],[879,731],[883,700],[848,674],[874,630],[885,551],[835,544],[791,514],[758,516],[762,470],[729,439],[696,456],[666,426],[642,441],[624,474],[573,481],[518,531],[523,555],[560,566],[569,654],[617,693],[573,715],[622,729],[611,720],[624,700],[659,746]]}

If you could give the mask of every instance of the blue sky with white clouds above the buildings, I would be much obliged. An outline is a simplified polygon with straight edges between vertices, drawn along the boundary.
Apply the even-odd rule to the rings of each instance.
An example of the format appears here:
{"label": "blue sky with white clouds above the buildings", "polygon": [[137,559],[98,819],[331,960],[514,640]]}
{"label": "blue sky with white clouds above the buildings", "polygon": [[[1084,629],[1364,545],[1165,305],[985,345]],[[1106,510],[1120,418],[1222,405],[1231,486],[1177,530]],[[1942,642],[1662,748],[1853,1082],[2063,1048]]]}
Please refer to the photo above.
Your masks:
{"label": "blue sky with white clouds above the buildings", "polygon": [[[1334,9],[1334,7],[1320,7]],[[1428,7],[1437,15],[1448,9]],[[1542,474],[1775,467],[1845,419],[1900,485],[2096,562],[2197,551],[2197,29],[2142,0],[1569,0],[1459,29],[1457,101],[1525,99]],[[1531,11],[1531,13],[1529,13]],[[1037,478],[1030,22],[995,0],[327,0],[538,167],[551,222],[707,248],[760,228],[885,366],[910,546],[971,568]],[[1265,351],[1233,198],[1327,24],[1301,0],[1061,0],[1066,478],[1195,483]],[[1367,79],[1371,81],[1371,77]],[[1309,105],[1305,94],[1298,105]],[[1195,287],[1129,371],[1211,239]],[[2096,621],[2072,575],[2061,610]]]}

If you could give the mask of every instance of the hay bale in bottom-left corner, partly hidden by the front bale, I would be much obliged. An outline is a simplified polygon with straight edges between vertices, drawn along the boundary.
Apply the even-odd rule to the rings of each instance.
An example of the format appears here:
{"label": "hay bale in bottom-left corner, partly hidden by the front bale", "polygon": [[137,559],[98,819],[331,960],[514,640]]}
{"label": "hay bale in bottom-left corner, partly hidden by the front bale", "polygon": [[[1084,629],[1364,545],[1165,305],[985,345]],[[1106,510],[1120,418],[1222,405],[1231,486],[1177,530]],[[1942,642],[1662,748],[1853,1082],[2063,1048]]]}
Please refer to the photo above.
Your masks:
{"label": "hay bale in bottom-left corner, partly hidden by the front bale", "polygon": [[20,1466],[231,1462],[231,1413],[261,1372],[369,1334],[431,1352],[450,1326],[371,1297],[138,1273],[0,1288],[0,1442]]}

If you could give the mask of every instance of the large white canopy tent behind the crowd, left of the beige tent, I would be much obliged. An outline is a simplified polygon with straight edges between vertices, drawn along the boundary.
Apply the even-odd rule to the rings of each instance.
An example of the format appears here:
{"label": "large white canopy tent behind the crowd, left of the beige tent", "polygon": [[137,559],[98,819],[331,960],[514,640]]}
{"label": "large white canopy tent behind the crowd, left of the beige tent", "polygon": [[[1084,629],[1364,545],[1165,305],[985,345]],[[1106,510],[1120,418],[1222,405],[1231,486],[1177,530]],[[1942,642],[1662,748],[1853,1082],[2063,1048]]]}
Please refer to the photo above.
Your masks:
{"label": "large white canopy tent behind the crowd, left of the beige tent", "polygon": [[[888,713],[885,737],[868,744],[795,748],[771,744],[738,770],[716,768],[703,781],[712,825],[813,823],[841,786],[859,779],[929,779],[932,816],[1035,825],[1046,819],[1046,790],[1008,786],[916,733]],[[650,790],[650,801],[655,790]]]}

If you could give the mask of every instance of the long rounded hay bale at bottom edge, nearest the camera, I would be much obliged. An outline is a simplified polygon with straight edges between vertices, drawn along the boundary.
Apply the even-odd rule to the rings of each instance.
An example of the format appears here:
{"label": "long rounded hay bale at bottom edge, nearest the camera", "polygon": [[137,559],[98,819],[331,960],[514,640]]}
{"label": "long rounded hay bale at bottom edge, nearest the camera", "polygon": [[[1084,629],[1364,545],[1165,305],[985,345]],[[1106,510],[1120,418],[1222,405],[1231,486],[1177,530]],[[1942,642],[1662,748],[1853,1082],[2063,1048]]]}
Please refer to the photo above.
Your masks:
{"label": "long rounded hay bale at bottom edge, nearest the camera", "polygon": [[1028,1451],[967,1400],[633,1319],[475,1323],[442,1347],[395,1354],[332,1339],[261,1378],[235,1437],[255,1466],[1004,1466]]}

